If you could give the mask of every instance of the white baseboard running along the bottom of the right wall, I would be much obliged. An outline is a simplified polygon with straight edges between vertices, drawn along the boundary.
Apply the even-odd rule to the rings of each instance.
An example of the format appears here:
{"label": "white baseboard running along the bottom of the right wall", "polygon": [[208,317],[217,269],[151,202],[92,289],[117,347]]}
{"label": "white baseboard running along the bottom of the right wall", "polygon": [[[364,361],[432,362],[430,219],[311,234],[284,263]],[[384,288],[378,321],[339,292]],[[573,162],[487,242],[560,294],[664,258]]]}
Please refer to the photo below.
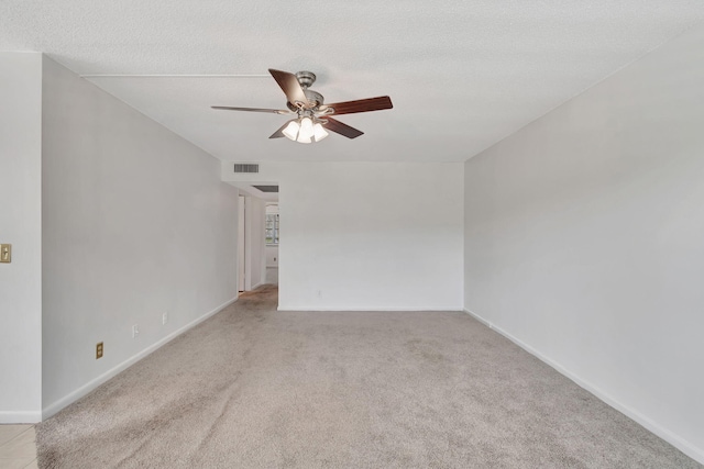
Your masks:
{"label": "white baseboard running along the bottom of the right wall", "polygon": [[474,312],[472,312],[470,310],[465,309],[464,312],[468,313],[469,315],[471,315],[472,317],[474,317],[475,320],[477,320],[479,322],[481,322],[482,324],[484,324],[485,326],[487,326],[488,328],[491,328],[493,331],[496,331],[497,333],[499,333],[504,337],[508,338],[510,342],[513,342],[514,344],[516,344],[517,346],[519,346],[524,350],[528,351],[530,355],[535,356],[536,358],[538,358],[541,361],[546,362],[547,365],[551,366],[558,372],[560,372],[561,375],[563,375],[566,378],[571,379],[572,381],[574,381],[581,388],[584,388],[585,390],[590,391],[592,394],[596,395],[598,399],[601,399],[602,401],[604,401],[606,404],[610,405],[612,407],[616,409],[622,414],[624,414],[627,417],[636,421],[637,423],[642,425],[646,429],[648,429],[649,432],[652,432],[653,434],[656,434],[660,438],[664,439],[670,445],[674,446],[680,451],[682,451],[685,455],[688,455],[690,458],[694,459],[695,461],[697,461],[700,464],[704,464],[704,448],[697,447],[696,445],[694,445],[694,444],[688,442],[686,439],[682,438],[681,436],[672,433],[671,431],[669,431],[668,428],[666,428],[662,425],[658,424],[657,422],[650,420],[649,417],[647,417],[646,415],[641,414],[640,412],[638,412],[638,411],[629,407],[628,405],[617,401],[612,395],[609,395],[607,392],[603,391],[602,389],[600,389],[598,387],[592,384],[591,382],[588,382],[586,380],[583,380],[579,376],[572,373],[570,370],[564,368],[558,361],[554,361],[553,359],[548,358],[547,356],[541,354],[536,348],[534,348],[530,345],[524,343],[522,340],[520,340],[519,338],[513,336],[510,333],[504,331],[503,328],[496,326],[491,321],[485,320],[484,317],[480,316],[479,314],[476,314],[476,313],[474,313]]}

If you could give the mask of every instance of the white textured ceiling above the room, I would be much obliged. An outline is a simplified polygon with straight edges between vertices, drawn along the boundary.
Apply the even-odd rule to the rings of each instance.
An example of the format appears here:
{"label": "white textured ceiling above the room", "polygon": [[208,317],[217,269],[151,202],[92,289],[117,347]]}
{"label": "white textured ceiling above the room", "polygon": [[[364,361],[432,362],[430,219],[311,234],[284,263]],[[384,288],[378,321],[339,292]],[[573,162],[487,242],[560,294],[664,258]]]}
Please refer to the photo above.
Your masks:
{"label": "white textured ceiling above the room", "polygon": [[[0,51],[47,53],[226,160],[458,161],[703,20],[702,0],[0,0]],[[311,145],[267,138],[286,116],[210,109],[282,109],[267,68],[395,108]]]}

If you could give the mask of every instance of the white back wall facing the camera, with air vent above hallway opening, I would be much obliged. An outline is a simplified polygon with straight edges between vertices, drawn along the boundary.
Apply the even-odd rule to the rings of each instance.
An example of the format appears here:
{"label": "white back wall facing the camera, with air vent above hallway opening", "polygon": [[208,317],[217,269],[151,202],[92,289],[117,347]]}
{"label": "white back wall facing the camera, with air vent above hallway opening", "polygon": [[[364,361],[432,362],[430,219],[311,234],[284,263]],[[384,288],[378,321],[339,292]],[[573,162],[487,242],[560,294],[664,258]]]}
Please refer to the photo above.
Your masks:
{"label": "white back wall facing the camera, with air vent above hallway opening", "polygon": [[[292,143],[293,144],[293,143]],[[463,164],[262,164],[279,185],[279,309],[460,310]]]}

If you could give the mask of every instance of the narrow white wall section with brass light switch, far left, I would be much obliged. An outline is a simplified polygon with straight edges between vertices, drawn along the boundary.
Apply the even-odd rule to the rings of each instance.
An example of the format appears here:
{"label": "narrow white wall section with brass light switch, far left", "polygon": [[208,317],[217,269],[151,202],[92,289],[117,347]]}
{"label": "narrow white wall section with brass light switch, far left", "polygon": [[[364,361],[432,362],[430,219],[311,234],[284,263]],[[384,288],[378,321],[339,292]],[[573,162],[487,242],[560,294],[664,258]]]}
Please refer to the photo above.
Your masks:
{"label": "narrow white wall section with brass light switch, far left", "polygon": [[42,55],[0,53],[0,423],[42,410]]}

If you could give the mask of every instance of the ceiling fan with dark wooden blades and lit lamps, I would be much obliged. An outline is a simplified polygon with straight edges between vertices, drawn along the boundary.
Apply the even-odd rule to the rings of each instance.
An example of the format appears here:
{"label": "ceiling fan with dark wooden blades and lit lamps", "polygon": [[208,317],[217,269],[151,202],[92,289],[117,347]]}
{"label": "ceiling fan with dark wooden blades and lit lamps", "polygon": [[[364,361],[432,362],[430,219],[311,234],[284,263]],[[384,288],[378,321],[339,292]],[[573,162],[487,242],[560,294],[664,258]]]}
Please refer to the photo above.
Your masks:
{"label": "ceiling fan with dark wooden blades and lit lamps", "polygon": [[288,109],[233,108],[228,105],[213,105],[211,108],[226,111],[273,112],[274,114],[295,115],[295,119],[282,125],[270,138],[287,137],[298,143],[311,143],[320,142],[327,137],[328,132],[326,130],[344,135],[348,138],[356,138],[364,133],[332,119],[331,115],[381,111],[394,107],[392,99],[387,96],[326,104],[322,94],[309,88],[316,81],[314,72],[298,71],[297,74],[290,74],[273,68],[270,68],[268,72],[272,74],[272,77],[284,90]]}

